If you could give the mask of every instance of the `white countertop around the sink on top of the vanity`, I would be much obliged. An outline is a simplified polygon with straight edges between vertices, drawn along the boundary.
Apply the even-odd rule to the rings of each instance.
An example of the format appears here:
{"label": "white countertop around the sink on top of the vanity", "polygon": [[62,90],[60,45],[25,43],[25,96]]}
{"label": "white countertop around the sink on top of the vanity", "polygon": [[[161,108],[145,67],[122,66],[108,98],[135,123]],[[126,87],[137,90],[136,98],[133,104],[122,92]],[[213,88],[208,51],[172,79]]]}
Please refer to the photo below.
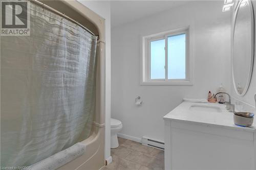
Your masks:
{"label": "white countertop around the sink on top of the vanity", "polygon": [[[222,112],[206,112],[206,111],[193,111],[190,110],[191,105],[204,105],[204,106],[217,106]],[[240,127],[234,125],[233,113],[226,110],[226,105],[219,103],[193,103],[183,102],[174,110],[170,111],[163,117],[165,120],[175,120],[182,122],[193,122],[198,124],[207,124],[207,126],[221,126],[228,129],[236,129],[254,132],[256,123],[250,127]]]}

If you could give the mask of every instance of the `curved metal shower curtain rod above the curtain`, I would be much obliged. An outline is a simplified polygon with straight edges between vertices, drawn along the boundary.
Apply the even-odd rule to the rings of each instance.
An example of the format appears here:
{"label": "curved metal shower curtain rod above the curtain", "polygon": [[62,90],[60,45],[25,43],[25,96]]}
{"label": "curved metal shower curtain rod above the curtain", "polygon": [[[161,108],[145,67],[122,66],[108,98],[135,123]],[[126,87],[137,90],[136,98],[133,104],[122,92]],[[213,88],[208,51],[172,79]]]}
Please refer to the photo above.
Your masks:
{"label": "curved metal shower curtain rod above the curtain", "polygon": [[[94,34],[92,31],[90,31],[88,28],[84,27],[84,26],[81,25],[79,22],[77,22],[76,20],[74,20],[74,19],[68,17],[68,16],[65,15],[64,13],[61,13],[61,12],[55,10],[54,8],[49,7],[48,5],[45,5],[44,3],[41,3],[41,2],[36,1],[36,0],[28,0],[28,1],[30,1],[31,3],[36,4],[36,5],[38,5],[38,6],[41,6],[43,10],[44,10],[44,9],[47,9],[48,11],[51,11],[51,12],[53,12],[53,13],[55,13],[55,14],[58,14],[58,15],[62,16],[63,18],[66,18],[66,19],[68,19],[68,20],[70,20],[70,21],[76,23],[78,26],[80,26],[80,27],[82,27],[83,29],[87,30],[87,31],[88,31],[89,33],[91,33],[92,35],[95,35],[95,34]],[[96,36],[98,36],[98,35],[96,35]]]}

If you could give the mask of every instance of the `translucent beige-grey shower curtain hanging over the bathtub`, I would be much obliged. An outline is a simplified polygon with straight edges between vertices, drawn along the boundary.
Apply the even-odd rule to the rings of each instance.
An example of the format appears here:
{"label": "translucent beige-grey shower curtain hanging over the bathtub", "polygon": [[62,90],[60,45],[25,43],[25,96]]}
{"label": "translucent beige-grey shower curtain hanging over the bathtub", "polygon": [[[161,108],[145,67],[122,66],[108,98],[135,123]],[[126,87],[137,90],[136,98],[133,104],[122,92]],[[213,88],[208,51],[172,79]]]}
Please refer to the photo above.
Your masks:
{"label": "translucent beige-grey shower curtain hanging over the bathtub", "polygon": [[1,166],[28,166],[90,135],[96,42],[31,4],[30,36],[1,37]]}

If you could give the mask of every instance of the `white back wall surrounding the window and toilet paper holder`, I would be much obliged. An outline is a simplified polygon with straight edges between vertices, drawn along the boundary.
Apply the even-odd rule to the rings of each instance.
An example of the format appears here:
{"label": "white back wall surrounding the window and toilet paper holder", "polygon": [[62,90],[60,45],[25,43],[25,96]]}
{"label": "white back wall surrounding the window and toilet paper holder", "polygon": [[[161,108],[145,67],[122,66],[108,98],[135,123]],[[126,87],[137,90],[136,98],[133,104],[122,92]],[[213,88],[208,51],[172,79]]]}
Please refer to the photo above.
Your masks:
{"label": "white back wall surrounding the window and toilet paper holder", "polygon": [[[230,13],[223,1],[199,1],[111,30],[111,116],[123,123],[124,135],[164,140],[163,116],[182,98],[206,98],[221,83],[230,88]],[[190,26],[193,44],[194,85],[140,85],[140,36]],[[143,105],[135,106],[141,96]]]}

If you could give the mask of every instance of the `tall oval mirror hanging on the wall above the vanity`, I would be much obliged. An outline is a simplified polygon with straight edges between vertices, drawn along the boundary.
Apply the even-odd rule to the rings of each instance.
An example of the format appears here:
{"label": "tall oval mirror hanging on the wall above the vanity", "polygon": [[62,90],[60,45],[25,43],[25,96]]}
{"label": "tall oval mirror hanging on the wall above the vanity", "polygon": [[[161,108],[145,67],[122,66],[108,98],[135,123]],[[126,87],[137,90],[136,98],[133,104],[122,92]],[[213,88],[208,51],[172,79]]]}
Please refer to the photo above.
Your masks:
{"label": "tall oval mirror hanging on the wall above the vanity", "polygon": [[234,2],[231,27],[231,67],[238,95],[250,85],[254,59],[254,16],[250,0]]}

